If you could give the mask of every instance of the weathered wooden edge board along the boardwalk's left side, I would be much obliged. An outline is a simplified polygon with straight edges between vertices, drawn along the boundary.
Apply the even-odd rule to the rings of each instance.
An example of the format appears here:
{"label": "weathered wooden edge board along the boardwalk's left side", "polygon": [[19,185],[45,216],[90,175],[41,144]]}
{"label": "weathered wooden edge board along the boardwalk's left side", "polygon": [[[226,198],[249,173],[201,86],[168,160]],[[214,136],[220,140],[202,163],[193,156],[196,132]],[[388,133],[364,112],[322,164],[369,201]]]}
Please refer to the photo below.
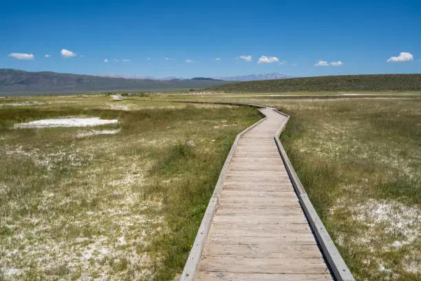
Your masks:
{"label": "weathered wooden edge board along the boardwalk's left side", "polygon": [[[255,105],[250,105],[255,106]],[[228,166],[230,164],[231,158],[233,158],[233,154],[235,151],[235,147],[237,147],[237,143],[239,138],[248,132],[250,129],[256,127],[260,123],[266,120],[262,118],[261,120],[257,121],[243,132],[239,133],[235,138],[233,146],[230,149],[230,152],[225,160],[224,166],[222,167],[221,173],[219,174],[219,178],[217,184],[215,185],[215,189],[213,191],[213,195],[209,200],[208,207],[206,207],[205,214],[202,218],[202,222],[200,224],[199,230],[197,231],[197,235],[195,238],[195,242],[193,242],[193,247],[191,248],[190,254],[188,255],[186,264],[184,265],[184,269],[180,278],[180,281],[193,281],[195,280],[195,275],[197,273],[197,269],[199,267],[200,258],[202,257],[202,253],[206,244],[206,240],[208,238],[208,233],[210,230],[210,225],[212,224],[213,216],[215,214],[215,210],[218,204],[219,194],[224,187],[224,181],[226,175],[228,173]]]}

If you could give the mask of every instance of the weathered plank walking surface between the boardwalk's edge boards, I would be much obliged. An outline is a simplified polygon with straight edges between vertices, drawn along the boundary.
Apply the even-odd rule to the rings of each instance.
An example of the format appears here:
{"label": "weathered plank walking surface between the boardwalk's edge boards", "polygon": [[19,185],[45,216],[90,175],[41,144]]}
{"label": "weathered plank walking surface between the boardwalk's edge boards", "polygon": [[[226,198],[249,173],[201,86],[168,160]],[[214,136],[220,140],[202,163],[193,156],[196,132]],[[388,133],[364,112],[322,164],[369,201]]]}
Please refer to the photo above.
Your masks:
{"label": "weathered plank walking surface between the boardwalk's edge boards", "polygon": [[332,280],[274,143],[286,117],[261,112],[235,148],[196,280]]}

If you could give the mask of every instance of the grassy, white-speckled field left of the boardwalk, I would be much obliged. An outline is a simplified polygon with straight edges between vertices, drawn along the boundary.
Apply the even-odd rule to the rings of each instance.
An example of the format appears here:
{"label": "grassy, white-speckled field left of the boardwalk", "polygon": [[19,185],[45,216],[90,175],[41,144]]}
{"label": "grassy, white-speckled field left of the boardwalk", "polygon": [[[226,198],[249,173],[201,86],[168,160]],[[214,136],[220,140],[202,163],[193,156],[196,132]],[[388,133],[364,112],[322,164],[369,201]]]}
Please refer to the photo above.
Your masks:
{"label": "grassy, white-speckled field left of the boardwalk", "polygon": [[[119,123],[11,129],[64,116]],[[172,280],[230,145],[259,118],[109,96],[0,99],[0,280]]]}

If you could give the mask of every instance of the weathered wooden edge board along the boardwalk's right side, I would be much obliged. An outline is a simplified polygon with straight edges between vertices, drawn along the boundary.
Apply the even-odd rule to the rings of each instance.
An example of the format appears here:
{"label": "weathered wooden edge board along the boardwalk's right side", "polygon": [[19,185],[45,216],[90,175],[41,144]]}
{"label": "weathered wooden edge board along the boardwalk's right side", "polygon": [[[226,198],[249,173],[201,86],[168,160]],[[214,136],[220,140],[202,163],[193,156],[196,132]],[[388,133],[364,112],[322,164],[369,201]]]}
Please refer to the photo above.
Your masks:
{"label": "weathered wooden edge board along the boardwalk's right side", "polygon": [[287,116],[287,119],[285,120],[281,128],[278,130],[276,136],[274,136],[274,141],[275,143],[277,143],[279,154],[281,154],[281,158],[283,160],[283,165],[285,165],[288,175],[290,176],[292,186],[294,187],[296,195],[299,198],[299,202],[301,207],[303,208],[304,214],[305,216],[307,216],[307,219],[310,222],[310,226],[312,227],[312,230],[316,235],[316,240],[320,244],[321,250],[323,251],[323,255],[325,255],[327,264],[329,264],[329,267],[332,270],[332,275],[334,275],[334,278],[338,281],[355,281],[354,276],[352,275],[351,271],[349,271],[349,268],[343,260],[341,253],[339,253],[332,238],[330,237],[329,233],[327,233],[323,222],[321,222],[321,219],[319,218],[316,209],[314,209],[312,202],[308,198],[307,193],[305,192],[305,189],[301,184],[301,180],[297,176],[294,167],[292,167],[290,159],[288,158],[285,149],[283,149],[281,141],[279,140],[279,136],[281,135],[281,133],[285,129],[286,124],[290,120],[290,116],[284,114],[283,112],[280,112],[279,110],[274,111],[278,112],[279,114],[282,114],[283,116]]}

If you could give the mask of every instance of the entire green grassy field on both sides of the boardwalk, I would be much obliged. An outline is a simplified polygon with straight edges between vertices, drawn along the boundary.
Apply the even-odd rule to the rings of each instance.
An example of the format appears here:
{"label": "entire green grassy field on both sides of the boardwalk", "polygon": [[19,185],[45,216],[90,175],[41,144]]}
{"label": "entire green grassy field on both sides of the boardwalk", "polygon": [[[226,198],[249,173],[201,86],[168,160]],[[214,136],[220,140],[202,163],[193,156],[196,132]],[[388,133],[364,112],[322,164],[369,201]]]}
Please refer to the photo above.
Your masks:
{"label": "entire green grassy field on both sides of the boardwalk", "polygon": [[[181,272],[230,144],[259,116],[156,102],[165,98],[193,96],[0,99],[3,276],[171,280]],[[194,98],[291,114],[283,145],[356,280],[419,280],[420,98]],[[9,129],[68,115],[117,118],[100,130],[120,131]]]}

